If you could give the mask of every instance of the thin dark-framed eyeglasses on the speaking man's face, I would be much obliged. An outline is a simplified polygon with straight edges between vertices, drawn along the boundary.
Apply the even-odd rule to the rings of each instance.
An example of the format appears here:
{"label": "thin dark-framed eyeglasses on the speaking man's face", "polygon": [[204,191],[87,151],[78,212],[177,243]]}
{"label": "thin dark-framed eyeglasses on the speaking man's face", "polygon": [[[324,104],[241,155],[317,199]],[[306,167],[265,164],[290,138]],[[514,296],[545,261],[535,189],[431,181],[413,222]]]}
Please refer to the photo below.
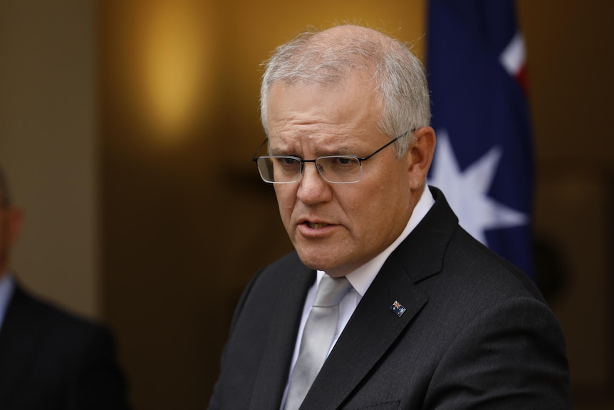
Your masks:
{"label": "thin dark-framed eyeglasses on the speaking man's face", "polygon": [[326,155],[315,160],[303,160],[289,155],[262,155],[256,157],[256,153],[264,146],[269,138],[265,138],[256,153],[251,157],[256,165],[260,177],[264,182],[271,184],[296,183],[303,178],[303,168],[305,163],[316,165],[318,173],[328,183],[350,184],[357,183],[363,178],[363,161],[373,158],[388,145],[395,143],[399,138],[407,135],[407,131],[397,138],[390,140],[386,145],[375,150],[365,158],[355,155]]}

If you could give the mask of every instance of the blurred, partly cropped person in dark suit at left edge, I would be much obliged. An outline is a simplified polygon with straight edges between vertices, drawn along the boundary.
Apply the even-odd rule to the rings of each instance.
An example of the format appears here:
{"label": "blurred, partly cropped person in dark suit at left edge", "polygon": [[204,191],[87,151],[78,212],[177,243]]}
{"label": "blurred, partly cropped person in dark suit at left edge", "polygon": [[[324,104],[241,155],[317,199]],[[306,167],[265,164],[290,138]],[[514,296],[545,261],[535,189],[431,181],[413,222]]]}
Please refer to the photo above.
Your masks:
{"label": "blurred, partly cropped person in dark suit at left edge", "polygon": [[36,299],[8,272],[20,225],[0,169],[0,409],[128,409],[108,330]]}

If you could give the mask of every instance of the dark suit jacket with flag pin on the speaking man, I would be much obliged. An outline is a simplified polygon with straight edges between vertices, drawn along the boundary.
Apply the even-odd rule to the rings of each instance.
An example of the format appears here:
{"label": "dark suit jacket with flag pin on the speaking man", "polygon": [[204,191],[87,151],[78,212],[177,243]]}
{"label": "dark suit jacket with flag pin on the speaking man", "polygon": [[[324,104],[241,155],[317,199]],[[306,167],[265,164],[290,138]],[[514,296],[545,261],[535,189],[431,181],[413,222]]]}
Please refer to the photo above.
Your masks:
{"label": "dark suit jacket with flag pin on the speaking man", "polygon": [[[570,409],[563,335],[541,294],[432,192],[435,205],[388,257],[301,409]],[[254,277],[209,409],[279,409],[314,277],[296,253]]]}

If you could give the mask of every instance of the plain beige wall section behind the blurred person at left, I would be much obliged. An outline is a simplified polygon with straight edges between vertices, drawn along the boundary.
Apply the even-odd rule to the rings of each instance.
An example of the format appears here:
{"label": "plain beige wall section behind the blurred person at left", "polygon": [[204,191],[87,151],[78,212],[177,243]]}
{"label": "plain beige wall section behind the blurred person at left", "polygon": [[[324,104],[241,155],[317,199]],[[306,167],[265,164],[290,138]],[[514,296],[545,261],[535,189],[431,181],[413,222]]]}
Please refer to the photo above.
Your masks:
{"label": "plain beige wall section behind the blurred person at left", "polygon": [[0,1],[0,164],[26,220],[12,266],[98,317],[93,1]]}

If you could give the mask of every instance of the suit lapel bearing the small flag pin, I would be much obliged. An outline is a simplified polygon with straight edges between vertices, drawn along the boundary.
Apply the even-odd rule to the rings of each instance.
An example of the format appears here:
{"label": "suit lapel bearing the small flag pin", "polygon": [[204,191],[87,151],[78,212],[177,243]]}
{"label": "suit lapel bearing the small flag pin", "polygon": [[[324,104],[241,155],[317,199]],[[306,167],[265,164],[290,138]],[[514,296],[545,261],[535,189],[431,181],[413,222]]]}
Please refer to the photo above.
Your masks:
{"label": "suit lapel bearing the small flag pin", "polygon": [[[436,188],[431,190],[435,205],[388,257],[301,409],[338,409],[427,303],[416,283],[441,271],[447,243],[458,227],[458,219],[442,193]],[[407,309],[400,317],[390,309],[395,301]]]}

